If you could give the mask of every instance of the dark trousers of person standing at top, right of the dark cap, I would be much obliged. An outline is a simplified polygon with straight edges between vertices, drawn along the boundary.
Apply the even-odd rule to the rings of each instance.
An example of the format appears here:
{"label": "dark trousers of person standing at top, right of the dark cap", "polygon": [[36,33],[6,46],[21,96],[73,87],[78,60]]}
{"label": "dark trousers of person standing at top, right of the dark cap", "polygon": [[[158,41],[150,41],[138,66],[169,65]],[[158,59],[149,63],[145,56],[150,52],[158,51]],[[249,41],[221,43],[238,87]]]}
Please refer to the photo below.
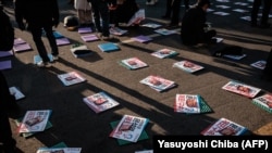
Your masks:
{"label": "dark trousers of person standing at top, right of the dark cap", "polygon": [[[109,31],[110,13],[108,8],[108,2],[101,0],[92,0],[91,7],[94,11],[94,18],[97,30],[99,33],[102,33],[102,36],[108,37],[110,35]],[[100,17],[102,18],[102,27],[100,24]]]}

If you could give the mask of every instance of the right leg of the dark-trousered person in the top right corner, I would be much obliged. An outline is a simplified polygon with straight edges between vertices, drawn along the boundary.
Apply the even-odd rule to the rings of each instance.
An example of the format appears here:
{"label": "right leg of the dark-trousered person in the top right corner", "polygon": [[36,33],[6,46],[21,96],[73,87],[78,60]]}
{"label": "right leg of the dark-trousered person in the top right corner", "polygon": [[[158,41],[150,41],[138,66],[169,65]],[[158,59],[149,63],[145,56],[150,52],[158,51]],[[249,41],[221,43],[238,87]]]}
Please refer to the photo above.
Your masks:
{"label": "right leg of the dark-trousered person in the top right corner", "polygon": [[261,16],[261,27],[268,28],[270,27],[270,24],[268,23],[269,20],[269,13],[271,10],[271,0],[264,0],[263,1],[263,9],[262,9],[262,16]]}

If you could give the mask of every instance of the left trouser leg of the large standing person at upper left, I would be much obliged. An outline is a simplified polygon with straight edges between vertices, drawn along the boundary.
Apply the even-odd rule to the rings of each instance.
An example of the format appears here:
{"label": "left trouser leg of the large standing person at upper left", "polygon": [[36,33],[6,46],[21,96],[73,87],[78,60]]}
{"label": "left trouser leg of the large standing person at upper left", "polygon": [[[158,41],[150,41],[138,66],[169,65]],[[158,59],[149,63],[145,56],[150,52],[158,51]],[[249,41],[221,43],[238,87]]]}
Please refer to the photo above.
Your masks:
{"label": "left trouser leg of the large standing person at upper left", "polygon": [[38,50],[38,53],[40,55],[40,58],[42,59],[42,62],[44,63],[47,63],[49,62],[49,58],[47,55],[47,50],[46,50],[46,47],[41,40],[41,33],[42,33],[42,29],[41,27],[39,26],[30,26],[30,31],[32,31],[32,35],[33,35],[33,40],[36,44],[36,48]]}

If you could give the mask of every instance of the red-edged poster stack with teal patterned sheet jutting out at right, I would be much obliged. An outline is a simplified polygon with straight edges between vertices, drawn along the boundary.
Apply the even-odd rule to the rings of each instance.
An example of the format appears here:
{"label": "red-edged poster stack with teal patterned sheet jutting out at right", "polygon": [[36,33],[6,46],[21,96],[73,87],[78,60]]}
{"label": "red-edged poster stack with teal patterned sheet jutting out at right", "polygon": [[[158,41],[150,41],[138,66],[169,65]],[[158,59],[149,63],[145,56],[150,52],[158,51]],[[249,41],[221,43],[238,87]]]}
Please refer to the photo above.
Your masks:
{"label": "red-edged poster stack with teal patterned sheet jutting out at right", "polygon": [[176,94],[174,112],[202,114],[212,112],[211,107],[199,94]]}

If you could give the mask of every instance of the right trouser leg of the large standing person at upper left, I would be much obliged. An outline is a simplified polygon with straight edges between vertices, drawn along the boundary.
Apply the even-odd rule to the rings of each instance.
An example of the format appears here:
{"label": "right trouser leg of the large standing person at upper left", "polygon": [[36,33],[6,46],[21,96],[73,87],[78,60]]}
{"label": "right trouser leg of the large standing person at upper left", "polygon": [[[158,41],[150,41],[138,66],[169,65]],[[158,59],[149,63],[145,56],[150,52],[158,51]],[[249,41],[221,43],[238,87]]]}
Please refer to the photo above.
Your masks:
{"label": "right trouser leg of the large standing person at upper left", "polygon": [[57,46],[55,37],[53,36],[52,26],[51,25],[46,25],[46,26],[44,26],[44,29],[46,31],[47,39],[48,39],[50,48],[51,48],[51,54],[53,56],[58,56],[59,55],[59,49],[58,49],[58,46]]}

